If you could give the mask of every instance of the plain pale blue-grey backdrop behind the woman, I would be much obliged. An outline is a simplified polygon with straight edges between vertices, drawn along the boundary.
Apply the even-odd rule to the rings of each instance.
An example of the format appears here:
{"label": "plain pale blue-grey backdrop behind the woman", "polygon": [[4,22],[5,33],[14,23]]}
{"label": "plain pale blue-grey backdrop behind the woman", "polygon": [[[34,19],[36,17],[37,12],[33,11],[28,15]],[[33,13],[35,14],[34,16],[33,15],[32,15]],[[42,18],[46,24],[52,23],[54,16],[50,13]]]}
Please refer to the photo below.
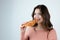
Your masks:
{"label": "plain pale blue-grey backdrop behind the woman", "polygon": [[33,8],[39,4],[47,6],[60,40],[60,0],[0,0],[0,40],[20,40],[19,25],[32,19]]}

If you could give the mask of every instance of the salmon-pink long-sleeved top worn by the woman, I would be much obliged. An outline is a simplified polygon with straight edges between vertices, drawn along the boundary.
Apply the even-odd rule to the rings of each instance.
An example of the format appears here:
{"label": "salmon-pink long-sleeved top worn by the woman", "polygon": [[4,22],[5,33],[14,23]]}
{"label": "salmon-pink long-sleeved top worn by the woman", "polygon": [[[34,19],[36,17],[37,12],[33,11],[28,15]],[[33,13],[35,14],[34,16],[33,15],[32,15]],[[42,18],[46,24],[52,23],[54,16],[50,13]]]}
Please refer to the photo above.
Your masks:
{"label": "salmon-pink long-sleeved top worn by the woman", "polygon": [[26,28],[25,32],[21,32],[21,40],[57,40],[56,31],[54,29],[48,31],[34,30],[34,28]]}

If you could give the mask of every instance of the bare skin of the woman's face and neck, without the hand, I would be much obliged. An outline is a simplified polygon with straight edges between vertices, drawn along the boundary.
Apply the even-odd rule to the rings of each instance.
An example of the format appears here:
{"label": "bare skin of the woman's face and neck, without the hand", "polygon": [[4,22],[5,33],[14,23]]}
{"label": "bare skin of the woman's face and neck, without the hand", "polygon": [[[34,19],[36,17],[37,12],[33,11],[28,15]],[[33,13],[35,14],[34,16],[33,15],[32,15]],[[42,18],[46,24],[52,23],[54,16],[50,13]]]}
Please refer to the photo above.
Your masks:
{"label": "bare skin of the woman's face and neck, without the hand", "polygon": [[40,29],[43,29],[42,27],[42,22],[43,22],[43,17],[41,16],[41,11],[40,9],[35,9],[35,12],[34,12],[34,18],[35,19],[38,19],[38,26],[36,27],[36,30],[40,30]]}

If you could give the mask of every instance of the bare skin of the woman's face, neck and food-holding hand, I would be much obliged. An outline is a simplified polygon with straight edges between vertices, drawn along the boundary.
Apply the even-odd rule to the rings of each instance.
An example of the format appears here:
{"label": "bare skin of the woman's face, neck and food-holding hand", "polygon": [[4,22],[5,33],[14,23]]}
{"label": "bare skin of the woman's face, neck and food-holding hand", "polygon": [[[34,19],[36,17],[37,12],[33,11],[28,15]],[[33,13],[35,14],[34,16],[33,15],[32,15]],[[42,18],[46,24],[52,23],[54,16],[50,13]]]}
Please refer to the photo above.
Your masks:
{"label": "bare skin of the woman's face, neck and food-holding hand", "polygon": [[[43,30],[43,28],[42,28],[43,26],[41,24],[43,22],[43,17],[40,14],[41,14],[40,9],[35,9],[34,18],[38,20],[38,22],[37,22],[38,26],[36,27],[36,30]],[[23,23],[23,24],[25,24],[25,23]],[[25,29],[28,29],[28,28],[23,28],[22,25],[20,26],[20,28],[21,28],[22,32],[24,32]]]}

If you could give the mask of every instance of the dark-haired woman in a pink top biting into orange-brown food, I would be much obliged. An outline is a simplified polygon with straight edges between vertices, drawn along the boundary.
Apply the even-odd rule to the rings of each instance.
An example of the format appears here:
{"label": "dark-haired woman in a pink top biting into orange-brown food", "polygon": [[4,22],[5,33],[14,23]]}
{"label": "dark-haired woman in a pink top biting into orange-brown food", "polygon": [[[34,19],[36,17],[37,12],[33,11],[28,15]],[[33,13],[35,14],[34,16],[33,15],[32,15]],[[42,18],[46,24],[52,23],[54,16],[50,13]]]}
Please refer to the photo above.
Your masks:
{"label": "dark-haired woman in a pink top biting into orange-brown food", "polygon": [[50,14],[45,5],[37,5],[32,18],[38,19],[38,22],[27,30],[21,26],[21,40],[57,40],[56,31],[50,22]]}

